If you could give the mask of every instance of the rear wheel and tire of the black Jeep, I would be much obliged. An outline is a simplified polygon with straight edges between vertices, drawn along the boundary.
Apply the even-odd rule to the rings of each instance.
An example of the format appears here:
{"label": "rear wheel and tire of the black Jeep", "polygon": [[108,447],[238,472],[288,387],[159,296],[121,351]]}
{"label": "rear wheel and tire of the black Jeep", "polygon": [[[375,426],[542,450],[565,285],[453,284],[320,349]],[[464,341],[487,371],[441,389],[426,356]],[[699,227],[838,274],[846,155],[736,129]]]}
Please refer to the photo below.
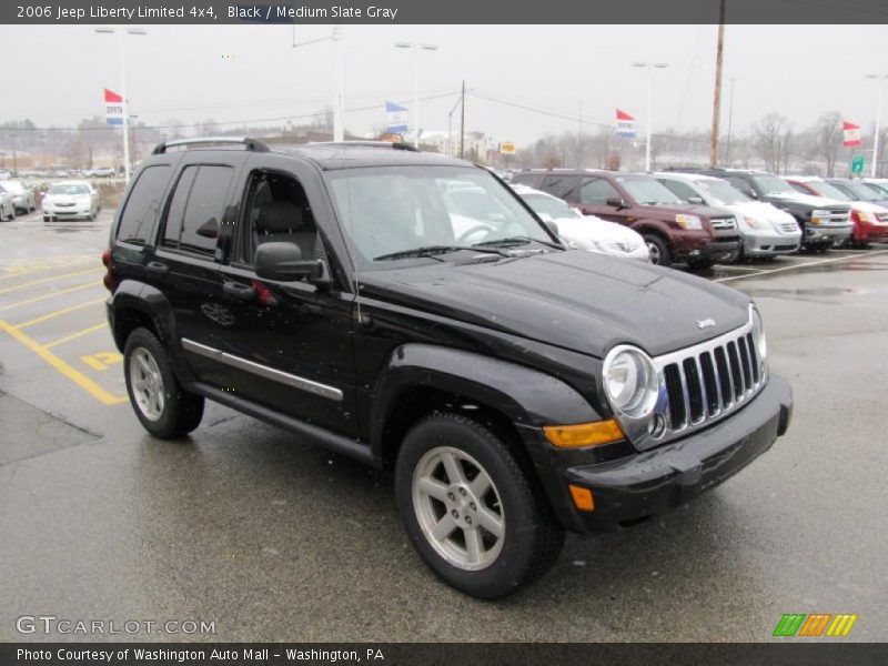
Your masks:
{"label": "rear wheel and tire of the black Jeep", "polygon": [[127,392],[142,426],[155,437],[174,440],[203,418],[203,396],[179,383],[167,350],[148,329],[135,329],[123,350]]}

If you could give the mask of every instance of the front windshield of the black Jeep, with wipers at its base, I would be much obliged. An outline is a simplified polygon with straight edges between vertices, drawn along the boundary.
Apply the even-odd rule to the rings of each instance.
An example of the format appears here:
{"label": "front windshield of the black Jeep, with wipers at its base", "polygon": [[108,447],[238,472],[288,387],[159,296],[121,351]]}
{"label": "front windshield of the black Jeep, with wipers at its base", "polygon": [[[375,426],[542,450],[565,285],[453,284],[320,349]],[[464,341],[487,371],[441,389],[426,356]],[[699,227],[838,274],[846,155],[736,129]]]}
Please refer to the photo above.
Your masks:
{"label": "front windshield of the black Jeep, with wipers at its base", "polygon": [[[326,172],[350,248],[364,269],[423,262],[500,241],[553,243],[514,195],[472,167],[369,167]],[[473,248],[474,246],[474,248]],[[422,252],[424,249],[435,249]],[[390,256],[416,251],[416,256]],[[447,256],[446,259],[450,259]]]}

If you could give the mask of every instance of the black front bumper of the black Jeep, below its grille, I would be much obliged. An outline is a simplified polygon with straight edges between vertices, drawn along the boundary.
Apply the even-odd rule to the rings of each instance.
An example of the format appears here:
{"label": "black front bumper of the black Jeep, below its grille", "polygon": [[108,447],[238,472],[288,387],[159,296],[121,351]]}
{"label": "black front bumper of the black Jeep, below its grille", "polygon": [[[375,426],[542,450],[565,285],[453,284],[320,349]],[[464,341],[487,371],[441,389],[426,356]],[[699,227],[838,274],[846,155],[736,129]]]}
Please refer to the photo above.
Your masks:
{"label": "black front bumper of the black Jeep, below its grille", "polygon": [[[644,453],[561,470],[561,488],[547,488],[549,500],[564,526],[575,532],[637,523],[697,497],[743,470],[786,433],[791,415],[789,384],[770,375],[743,410],[707,430]],[[548,475],[548,481],[554,476]],[[581,512],[573,505],[568,483],[592,491],[594,511]]]}

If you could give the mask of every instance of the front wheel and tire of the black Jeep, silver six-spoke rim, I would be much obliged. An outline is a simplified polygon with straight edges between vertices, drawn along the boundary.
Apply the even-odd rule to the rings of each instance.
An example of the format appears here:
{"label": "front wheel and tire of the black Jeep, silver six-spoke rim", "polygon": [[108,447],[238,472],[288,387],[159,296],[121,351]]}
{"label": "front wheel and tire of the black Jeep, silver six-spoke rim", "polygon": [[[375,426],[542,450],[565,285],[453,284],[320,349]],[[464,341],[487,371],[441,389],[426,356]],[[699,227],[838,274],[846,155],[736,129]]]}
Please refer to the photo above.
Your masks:
{"label": "front wheel and tire of the black Jeep, silver six-spoke rim", "polygon": [[502,597],[542,576],[564,543],[506,442],[465,416],[434,414],[407,433],[395,494],[423,561],[474,597]]}

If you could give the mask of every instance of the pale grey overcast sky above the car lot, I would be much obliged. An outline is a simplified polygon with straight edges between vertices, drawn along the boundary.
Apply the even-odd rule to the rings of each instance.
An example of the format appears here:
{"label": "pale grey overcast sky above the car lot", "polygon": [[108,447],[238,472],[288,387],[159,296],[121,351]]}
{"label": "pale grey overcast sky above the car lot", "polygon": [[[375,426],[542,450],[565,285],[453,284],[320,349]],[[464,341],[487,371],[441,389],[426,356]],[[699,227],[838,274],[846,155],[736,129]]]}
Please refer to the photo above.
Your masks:
{"label": "pale grey overcast sky above the car lot", "polygon": [[[299,123],[299,117],[332,103],[333,44],[293,49],[290,26],[145,30],[145,37],[128,36],[125,64],[131,111],[147,124],[282,117]],[[425,130],[447,129],[463,79],[478,94],[574,119],[582,103],[588,122],[613,122],[619,107],[643,129],[647,73],[632,67],[639,60],[669,63],[656,72],[654,132],[712,123],[715,26],[349,26],[344,31],[346,111],[373,107],[346,112],[350,131],[383,125],[385,100],[412,99],[411,53],[395,49],[395,41],[438,47],[421,52],[420,95],[452,94],[421,103]],[[296,29],[299,40],[329,33],[323,26]],[[102,88],[120,87],[117,37],[91,27],[1,26],[0,43],[7,64],[0,121],[75,125],[104,113]],[[735,130],[768,112],[804,129],[827,111],[857,122],[865,135],[871,128],[878,83],[864,75],[888,73],[888,27],[728,26],[725,49],[723,122],[729,79],[736,77]],[[548,132],[576,131],[578,122],[470,98],[466,125],[521,147]]]}

